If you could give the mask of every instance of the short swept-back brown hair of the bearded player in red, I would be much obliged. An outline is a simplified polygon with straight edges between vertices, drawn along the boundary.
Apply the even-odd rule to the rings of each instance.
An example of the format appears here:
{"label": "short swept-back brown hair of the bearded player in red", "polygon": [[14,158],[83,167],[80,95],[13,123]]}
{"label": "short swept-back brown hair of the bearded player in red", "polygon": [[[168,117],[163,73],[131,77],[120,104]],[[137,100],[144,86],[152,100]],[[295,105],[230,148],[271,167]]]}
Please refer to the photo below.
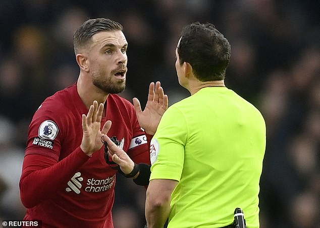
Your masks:
{"label": "short swept-back brown hair of the bearded player in red", "polygon": [[123,26],[118,22],[106,18],[85,21],[73,35],[75,53],[77,54],[81,47],[86,46],[94,34],[105,31],[123,31]]}

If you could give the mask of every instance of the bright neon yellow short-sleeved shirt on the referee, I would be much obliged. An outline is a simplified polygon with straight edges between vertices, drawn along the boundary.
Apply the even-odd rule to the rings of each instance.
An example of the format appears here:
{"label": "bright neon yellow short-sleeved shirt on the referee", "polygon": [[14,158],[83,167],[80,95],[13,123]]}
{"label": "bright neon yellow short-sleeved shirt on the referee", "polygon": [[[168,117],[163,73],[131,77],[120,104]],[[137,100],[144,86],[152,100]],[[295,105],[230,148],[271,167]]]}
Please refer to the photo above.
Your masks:
{"label": "bright neon yellow short-sleeved shirt on the referee", "polygon": [[150,180],[179,182],[168,227],[222,227],[241,207],[247,227],[258,228],[264,151],[262,115],[226,87],[203,88],[169,107],[150,147]]}

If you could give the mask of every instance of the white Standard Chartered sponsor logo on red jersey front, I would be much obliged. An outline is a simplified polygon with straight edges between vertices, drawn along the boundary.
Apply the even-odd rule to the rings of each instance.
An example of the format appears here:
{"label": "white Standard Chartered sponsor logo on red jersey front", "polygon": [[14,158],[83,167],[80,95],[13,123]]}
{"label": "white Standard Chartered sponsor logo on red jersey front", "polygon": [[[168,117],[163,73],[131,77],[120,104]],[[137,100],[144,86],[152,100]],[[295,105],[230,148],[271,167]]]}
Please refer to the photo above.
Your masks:
{"label": "white Standard Chartered sponsor logo on red jersey front", "polygon": [[68,186],[66,188],[67,192],[74,191],[76,194],[81,193],[81,188],[84,185],[83,189],[86,192],[103,192],[112,188],[115,183],[115,175],[105,179],[94,179],[89,178],[86,183],[82,183],[83,177],[81,173],[77,172],[70,181],[68,181]]}

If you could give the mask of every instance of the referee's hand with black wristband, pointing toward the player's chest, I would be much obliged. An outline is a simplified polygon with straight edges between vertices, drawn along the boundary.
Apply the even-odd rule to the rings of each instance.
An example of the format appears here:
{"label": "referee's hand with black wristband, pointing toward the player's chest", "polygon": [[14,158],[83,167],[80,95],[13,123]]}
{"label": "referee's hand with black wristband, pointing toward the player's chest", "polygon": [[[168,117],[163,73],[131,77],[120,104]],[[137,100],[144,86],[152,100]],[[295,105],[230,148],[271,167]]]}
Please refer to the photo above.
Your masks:
{"label": "referee's hand with black wristband, pointing toward the player's chest", "polygon": [[121,171],[124,174],[129,174],[134,168],[134,162],[130,159],[127,153],[117,146],[108,135],[103,135],[101,140],[108,144],[108,153],[112,156],[112,161],[120,166]]}

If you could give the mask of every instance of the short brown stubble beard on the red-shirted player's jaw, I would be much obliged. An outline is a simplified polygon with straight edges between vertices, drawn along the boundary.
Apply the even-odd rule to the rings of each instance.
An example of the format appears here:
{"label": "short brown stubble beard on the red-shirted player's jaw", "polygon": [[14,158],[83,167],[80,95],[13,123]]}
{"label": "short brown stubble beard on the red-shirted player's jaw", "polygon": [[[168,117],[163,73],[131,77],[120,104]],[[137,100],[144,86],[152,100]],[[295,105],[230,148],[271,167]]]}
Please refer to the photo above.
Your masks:
{"label": "short brown stubble beard on the red-shirted player's jaw", "polygon": [[92,83],[97,88],[108,94],[119,94],[126,88],[126,80],[117,80],[111,75],[105,77],[106,73],[98,71],[92,73]]}

